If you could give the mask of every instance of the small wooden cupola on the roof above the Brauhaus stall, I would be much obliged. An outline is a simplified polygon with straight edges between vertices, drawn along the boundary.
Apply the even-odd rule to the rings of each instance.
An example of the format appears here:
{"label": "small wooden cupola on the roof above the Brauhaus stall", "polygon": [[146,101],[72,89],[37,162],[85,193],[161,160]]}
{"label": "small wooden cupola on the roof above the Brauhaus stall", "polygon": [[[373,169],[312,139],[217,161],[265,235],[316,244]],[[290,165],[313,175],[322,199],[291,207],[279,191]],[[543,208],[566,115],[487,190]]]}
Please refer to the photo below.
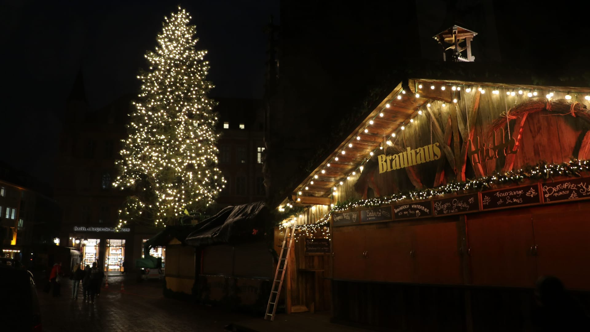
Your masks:
{"label": "small wooden cupola on the roof above the Brauhaus stall", "polygon": [[[471,62],[476,57],[471,55],[471,40],[477,32],[453,25],[445,31],[434,35],[438,44],[442,45],[442,60],[454,62]],[[464,43],[464,44],[463,44]],[[466,53],[463,53],[467,51]]]}

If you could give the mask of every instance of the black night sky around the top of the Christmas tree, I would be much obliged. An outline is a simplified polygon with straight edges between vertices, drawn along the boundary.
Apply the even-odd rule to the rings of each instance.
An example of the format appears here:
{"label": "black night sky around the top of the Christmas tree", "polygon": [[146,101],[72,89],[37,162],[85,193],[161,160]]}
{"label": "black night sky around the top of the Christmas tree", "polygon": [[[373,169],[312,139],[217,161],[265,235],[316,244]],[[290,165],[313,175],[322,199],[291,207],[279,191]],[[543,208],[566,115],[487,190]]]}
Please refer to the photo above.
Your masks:
{"label": "black night sky around the top of the Christmas tree", "polygon": [[278,1],[5,1],[0,161],[51,183],[65,100],[80,68],[91,109],[135,95],[143,55],[178,4],[192,15],[196,47],[209,51],[212,96],[261,98],[263,28],[270,15],[278,21]]}

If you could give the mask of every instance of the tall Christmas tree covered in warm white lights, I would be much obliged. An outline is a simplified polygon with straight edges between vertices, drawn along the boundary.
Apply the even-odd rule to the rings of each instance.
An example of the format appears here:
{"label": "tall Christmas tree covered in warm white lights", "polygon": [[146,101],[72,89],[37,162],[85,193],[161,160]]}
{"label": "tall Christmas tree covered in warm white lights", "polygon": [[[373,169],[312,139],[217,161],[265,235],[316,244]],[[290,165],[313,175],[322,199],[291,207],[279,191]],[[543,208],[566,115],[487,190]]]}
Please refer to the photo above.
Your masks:
{"label": "tall Christmas tree covered in warm white lights", "polygon": [[156,50],[145,55],[149,70],[137,76],[142,86],[113,182],[133,190],[120,210],[119,227],[130,221],[166,226],[182,213],[204,212],[226,182],[217,168],[207,51],[195,51],[198,38],[189,19],[181,8],[164,18]]}

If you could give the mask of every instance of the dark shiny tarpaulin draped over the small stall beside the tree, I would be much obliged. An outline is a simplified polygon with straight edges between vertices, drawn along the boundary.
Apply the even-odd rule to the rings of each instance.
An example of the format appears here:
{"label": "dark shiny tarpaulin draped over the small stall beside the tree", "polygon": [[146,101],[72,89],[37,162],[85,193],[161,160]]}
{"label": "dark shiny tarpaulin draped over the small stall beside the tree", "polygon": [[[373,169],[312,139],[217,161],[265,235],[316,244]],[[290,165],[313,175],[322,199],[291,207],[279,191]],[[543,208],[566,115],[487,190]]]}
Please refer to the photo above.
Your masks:
{"label": "dark shiny tarpaulin draped over the small stall beside the tree", "polygon": [[228,206],[208,219],[196,224],[185,239],[187,245],[209,246],[250,242],[264,236],[268,209],[264,202]]}

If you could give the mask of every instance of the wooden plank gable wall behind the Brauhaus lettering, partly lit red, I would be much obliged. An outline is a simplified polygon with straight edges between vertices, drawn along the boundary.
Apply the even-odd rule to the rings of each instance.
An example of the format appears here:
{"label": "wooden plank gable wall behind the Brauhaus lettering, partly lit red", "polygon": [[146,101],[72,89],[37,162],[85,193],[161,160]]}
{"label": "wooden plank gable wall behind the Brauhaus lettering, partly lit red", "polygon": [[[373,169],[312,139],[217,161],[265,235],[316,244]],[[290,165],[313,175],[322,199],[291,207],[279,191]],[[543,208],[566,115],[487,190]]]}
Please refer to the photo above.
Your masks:
{"label": "wooden plank gable wall behind the Brauhaus lettering, partly lit red", "polygon": [[[442,107],[443,102],[432,100],[430,102],[430,108],[427,108],[426,105],[422,106],[422,115],[416,115],[412,123],[408,119],[405,123],[405,130],[398,131],[398,135],[395,138],[391,138],[391,141],[394,143],[393,148],[387,149],[386,153],[395,154],[404,151],[407,147],[415,149],[439,142],[440,139],[437,139],[437,128],[440,128],[440,134],[444,135],[444,132],[449,127],[453,128],[457,126],[457,131],[461,135],[456,135],[457,131],[455,131],[448,146],[451,149],[451,155],[454,157],[455,163],[458,162],[460,164],[462,162],[460,153],[455,150],[457,150],[457,147],[458,149],[463,148],[465,144],[461,136],[466,135],[466,132],[468,134],[468,123],[475,121],[473,135],[478,136],[482,144],[484,142],[486,144],[492,144],[493,135],[489,132],[491,123],[497,118],[500,118],[500,116],[503,116],[503,114],[505,116],[507,109],[529,100],[529,97],[526,96],[527,91],[522,95],[516,93],[516,96],[507,96],[506,91],[506,89],[499,89],[499,94],[495,95],[491,93],[491,89],[489,88],[483,94],[478,92],[475,87],[469,93],[465,92],[465,89],[461,89],[460,92],[454,92],[454,97],[457,97],[458,102],[445,103],[445,107]],[[537,97],[543,98],[546,93],[539,91]],[[471,112],[474,105],[476,105],[477,94],[480,100],[476,119],[468,119],[468,112]],[[564,97],[565,93],[555,93],[553,99],[563,99]],[[572,100],[574,99],[575,97]],[[579,95],[576,101],[590,108],[590,102],[585,100],[582,95]],[[430,112],[427,109],[430,109]],[[449,125],[450,121],[452,122],[451,126]],[[509,136],[512,137],[517,121],[520,121],[520,119],[511,120],[509,126],[504,126],[505,139],[508,139]],[[531,113],[523,123],[522,141],[519,145],[519,152],[516,154],[514,160],[513,170],[523,168],[525,165],[536,164],[539,161],[559,163],[568,162],[572,157],[577,158],[582,138],[588,132],[588,129],[588,124],[579,117],[551,115],[547,111]],[[497,135],[500,139],[501,132],[499,131]],[[365,171],[359,177],[359,183],[353,180],[347,181],[347,183],[340,186],[342,189],[337,194],[335,201],[358,200],[365,194],[363,188],[366,188],[367,184],[371,187],[373,182],[378,187],[379,196],[387,196],[403,190],[413,190],[417,187],[417,181],[413,181],[412,183],[408,176],[409,170],[407,169],[379,174],[376,162],[378,154],[375,154],[372,160],[365,164]],[[584,153],[581,153],[581,157],[584,155]],[[443,152],[442,156],[441,159],[444,159],[444,166],[442,167],[444,177],[440,184],[445,184],[456,180],[457,174],[451,167],[451,163],[447,161],[447,155]],[[502,171],[505,159],[504,155],[500,155],[495,160],[482,162],[483,175],[493,174],[494,171]],[[434,180],[437,165],[437,161],[424,162],[423,164],[412,167],[413,170],[411,171],[413,174],[417,174],[419,183],[424,188],[430,188],[435,186]],[[365,174],[365,172],[371,172],[371,174]],[[467,179],[476,177],[476,172],[469,160],[467,160],[465,176]]]}

